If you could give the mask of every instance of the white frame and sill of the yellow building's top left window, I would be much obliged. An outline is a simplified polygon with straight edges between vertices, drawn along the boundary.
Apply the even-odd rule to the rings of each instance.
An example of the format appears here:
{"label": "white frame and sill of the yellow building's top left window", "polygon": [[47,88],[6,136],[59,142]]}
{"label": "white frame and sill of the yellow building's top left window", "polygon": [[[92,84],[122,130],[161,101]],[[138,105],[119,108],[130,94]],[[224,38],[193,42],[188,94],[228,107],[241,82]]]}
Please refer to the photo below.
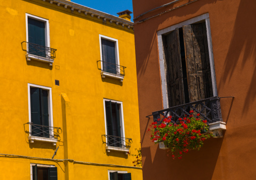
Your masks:
{"label": "white frame and sill of the yellow building's top left window", "polygon": [[[49,27],[49,20],[38,17],[38,16],[34,16],[34,15],[30,15],[28,13],[26,13],[26,41],[28,42],[28,18],[32,18],[35,19],[37,21],[41,21],[45,23],[45,47],[50,48],[50,27]],[[28,45],[26,45],[27,47],[27,61],[30,61],[31,59],[34,60],[39,60],[39,61],[43,61],[43,62],[48,62],[49,65],[52,65],[53,60],[49,59],[49,58],[44,58],[44,57],[40,57],[40,56],[36,56],[36,55],[31,55],[29,54],[28,51]],[[50,54],[48,53],[48,55],[50,56]]]}

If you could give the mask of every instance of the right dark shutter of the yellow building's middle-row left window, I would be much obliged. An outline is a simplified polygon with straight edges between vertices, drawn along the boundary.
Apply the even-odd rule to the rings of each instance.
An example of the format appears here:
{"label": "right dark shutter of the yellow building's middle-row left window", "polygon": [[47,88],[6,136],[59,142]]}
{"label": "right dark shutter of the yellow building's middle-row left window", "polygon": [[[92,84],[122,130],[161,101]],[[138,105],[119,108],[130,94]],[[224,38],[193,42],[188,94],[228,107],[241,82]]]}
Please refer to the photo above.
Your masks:
{"label": "right dark shutter of the yellow building's middle-row left window", "polygon": [[49,137],[48,91],[40,88],[43,137]]}

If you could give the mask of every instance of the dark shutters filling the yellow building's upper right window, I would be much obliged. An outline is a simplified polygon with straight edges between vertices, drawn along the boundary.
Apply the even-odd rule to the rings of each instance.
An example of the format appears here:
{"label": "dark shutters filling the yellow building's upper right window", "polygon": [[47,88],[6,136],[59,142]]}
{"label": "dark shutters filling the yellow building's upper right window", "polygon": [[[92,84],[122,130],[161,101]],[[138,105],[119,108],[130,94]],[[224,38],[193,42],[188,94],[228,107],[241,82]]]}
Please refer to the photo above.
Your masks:
{"label": "dark shutters filling the yellow building's upper right window", "polygon": [[101,39],[101,49],[103,71],[116,74],[115,42]]}

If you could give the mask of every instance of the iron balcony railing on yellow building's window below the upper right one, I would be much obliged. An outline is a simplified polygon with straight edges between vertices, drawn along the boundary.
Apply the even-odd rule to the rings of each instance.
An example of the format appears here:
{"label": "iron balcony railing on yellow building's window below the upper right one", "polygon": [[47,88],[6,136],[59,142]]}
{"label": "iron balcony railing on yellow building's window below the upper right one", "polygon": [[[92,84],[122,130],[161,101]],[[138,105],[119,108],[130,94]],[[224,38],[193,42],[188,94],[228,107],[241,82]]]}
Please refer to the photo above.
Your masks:
{"label": "iron balcony railing on yellow building's window below the upper right one", "polygon": [[[112,135],[102,135],[102,137],[107,138],[107,145],[112,147],[130,148],[133,140],[126,137],[118,137]],[[102,139],[104,142],[104,140]]]}

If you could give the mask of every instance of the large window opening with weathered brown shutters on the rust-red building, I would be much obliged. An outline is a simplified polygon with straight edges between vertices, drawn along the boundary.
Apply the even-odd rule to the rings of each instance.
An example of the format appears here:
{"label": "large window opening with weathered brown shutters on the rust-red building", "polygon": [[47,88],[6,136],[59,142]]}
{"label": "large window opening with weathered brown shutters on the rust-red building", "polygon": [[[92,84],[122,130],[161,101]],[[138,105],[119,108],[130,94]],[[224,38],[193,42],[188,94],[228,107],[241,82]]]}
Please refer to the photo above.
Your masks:
{"label": "large window opening with weathered brown shutters on the rust-red building", "polygon": [[206,24],[163,35],[169,107],[213,97]]}

